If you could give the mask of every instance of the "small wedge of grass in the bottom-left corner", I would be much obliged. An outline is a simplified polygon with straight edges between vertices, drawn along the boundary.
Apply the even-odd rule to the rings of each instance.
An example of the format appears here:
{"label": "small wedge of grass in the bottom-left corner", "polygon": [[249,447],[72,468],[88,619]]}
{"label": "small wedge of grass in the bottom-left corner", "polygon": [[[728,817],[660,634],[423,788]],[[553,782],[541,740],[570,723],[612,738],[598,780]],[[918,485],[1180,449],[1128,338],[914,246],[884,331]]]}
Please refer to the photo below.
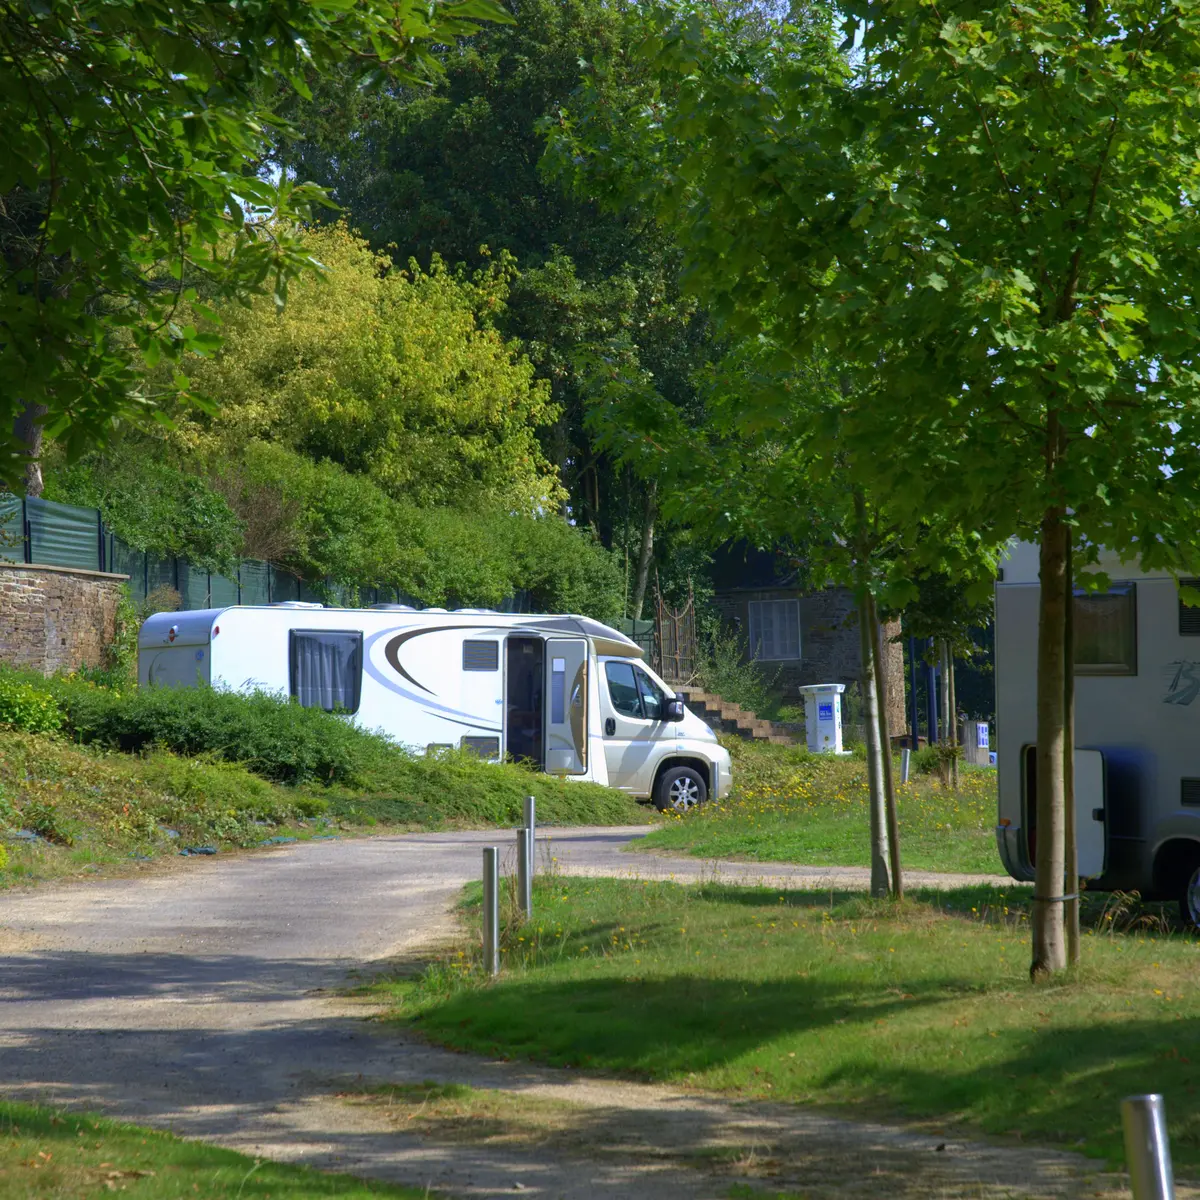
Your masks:
{"label": "small wedge of grass in the bottom-left corner", "polygon": [[262,1162],[101,1117],[0,1100],[0,1195],[78,1200],[114,1192],[132,1200],[421,1200],[427,1194],[424,1188]]}

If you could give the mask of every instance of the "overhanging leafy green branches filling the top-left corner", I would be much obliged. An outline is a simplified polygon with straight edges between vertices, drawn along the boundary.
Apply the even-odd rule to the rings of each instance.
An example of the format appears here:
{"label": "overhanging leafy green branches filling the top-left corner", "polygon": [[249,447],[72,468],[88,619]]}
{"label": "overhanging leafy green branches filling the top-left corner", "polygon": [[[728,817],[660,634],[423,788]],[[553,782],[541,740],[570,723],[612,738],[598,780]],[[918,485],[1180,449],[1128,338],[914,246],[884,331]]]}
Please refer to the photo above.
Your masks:
{"label": "overhanging leafy green branches filling the top-left corner", "polygon": [[433,43],[479,19],[508,17],[493,0],[5,5],[0,482],[40,488],[43,436],[78,454],[154,412],[143,367],[218,342],[175,319],[194,288],[282,301],[314,265],[289,222],[324,193],[258,170],[280,124],[264,83],[304,94],[346,65],[418,84]]}

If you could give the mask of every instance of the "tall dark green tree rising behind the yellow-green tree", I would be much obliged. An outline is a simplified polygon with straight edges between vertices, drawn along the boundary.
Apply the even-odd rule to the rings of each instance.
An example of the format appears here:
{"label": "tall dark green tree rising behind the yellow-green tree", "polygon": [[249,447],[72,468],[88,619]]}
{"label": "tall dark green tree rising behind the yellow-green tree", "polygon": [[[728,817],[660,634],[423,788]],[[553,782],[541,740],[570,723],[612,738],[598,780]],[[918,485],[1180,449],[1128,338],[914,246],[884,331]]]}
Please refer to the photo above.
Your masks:
{"label": "tall dark green tree rising behind the yellow-green tree", "polygon": [[518,275],[497,319],[551,386],[559,415],[541,440],[571,516],[622,542],[652,580],[672,546],[654,528],[653,480],[593,442],[580,361],[617,353],[666,402],[686,406],[710,330],[680,294],[673,236],[653,214],[605,211],[540,169],[539,125],[558,120],[581,64],[618,64],[604,85],[614,97],[636,86],[628,12],[622,0],[521,0],[514,24],[446,48],[432,90],[318,83],[312,103],[288,108],[299,137],[280,139],[277,156],[289,174],[326,185],[352,227],[402,264],[439,256],[473,269],[487,262],[482,247],[514,256]]}

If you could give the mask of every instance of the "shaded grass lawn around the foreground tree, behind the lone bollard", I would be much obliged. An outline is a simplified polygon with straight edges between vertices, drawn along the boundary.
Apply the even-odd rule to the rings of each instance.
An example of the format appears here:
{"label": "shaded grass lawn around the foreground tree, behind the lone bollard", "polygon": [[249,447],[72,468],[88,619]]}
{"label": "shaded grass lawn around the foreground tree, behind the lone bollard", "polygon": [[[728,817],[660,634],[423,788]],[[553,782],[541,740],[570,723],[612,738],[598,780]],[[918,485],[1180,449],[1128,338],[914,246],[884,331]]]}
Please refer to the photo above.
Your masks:
{"label": "shaded grass lawn around the foreground tree, behind the lone bollard", "polygon": [[970,887],[898,907],[548,876],[535,923],[506,930],[499,980],[480,977],[472,941],[419,979],[373,986],[395,1020],[464,1050],[1112,1160],[1121,1098],[1159,1091],[1176,1164],[1196,1174],[1200,942],[1097,896],[1078,976],[1033,986],[1028,895]]}

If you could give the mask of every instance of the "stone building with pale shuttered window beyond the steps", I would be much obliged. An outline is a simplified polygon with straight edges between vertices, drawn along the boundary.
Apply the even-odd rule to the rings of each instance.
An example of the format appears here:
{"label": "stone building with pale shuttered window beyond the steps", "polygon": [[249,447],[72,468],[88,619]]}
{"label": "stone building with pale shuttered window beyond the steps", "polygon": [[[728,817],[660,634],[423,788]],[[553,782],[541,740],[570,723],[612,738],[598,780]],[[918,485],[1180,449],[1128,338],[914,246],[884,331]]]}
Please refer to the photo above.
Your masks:
{"label": "stone building with pale shuttered window beyond the steps", "polygon": [[[854,596],[848,588],[804,588],[781,556],[744,544],[726,547],[713,564],[713,607],[722,625],[736,630],[748,658],[762,664],[788,701],[814,683],[844,683],[857,692],[862,649]],[[887,638],[899,622],[884,625]],[[887,641],[888,724],[893,737],[905,732],[904,649]]]}

